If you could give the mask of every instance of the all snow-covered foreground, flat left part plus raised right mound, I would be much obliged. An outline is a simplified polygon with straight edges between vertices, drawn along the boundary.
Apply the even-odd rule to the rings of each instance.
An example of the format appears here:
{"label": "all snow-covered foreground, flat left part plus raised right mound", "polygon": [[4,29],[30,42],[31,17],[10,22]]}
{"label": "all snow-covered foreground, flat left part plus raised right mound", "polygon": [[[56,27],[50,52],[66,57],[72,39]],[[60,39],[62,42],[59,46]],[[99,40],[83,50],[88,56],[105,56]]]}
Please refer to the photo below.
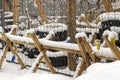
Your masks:
{"label": "all snow-covered foreground, flat left part plus raised right mound", "polygon": [[0,70],[0,80],[120,80],[119,72],[120,61],[95,63],[76,79],[40,70],[37,73],[28,73],[28,69],[21,70],[18,64],[4,62]]}

